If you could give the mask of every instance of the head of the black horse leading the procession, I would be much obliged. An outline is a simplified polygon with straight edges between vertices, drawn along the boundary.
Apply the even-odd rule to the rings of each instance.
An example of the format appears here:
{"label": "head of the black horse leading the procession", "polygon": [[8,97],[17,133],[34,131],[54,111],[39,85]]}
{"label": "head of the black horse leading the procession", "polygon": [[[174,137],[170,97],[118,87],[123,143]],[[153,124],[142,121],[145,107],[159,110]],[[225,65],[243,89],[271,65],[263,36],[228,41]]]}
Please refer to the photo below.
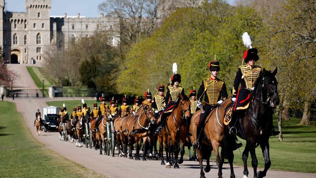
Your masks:
{"label": "head of the black horse leading the procession", "polygon": [[280,98],[278,94],[278,82],[275,75],[278,72],[276,68],[273,72],[263,69],[263,76],[261,78],[258,88],[263,89],[263,101],[269,104],[271,107],[276,107],[280,104]]}

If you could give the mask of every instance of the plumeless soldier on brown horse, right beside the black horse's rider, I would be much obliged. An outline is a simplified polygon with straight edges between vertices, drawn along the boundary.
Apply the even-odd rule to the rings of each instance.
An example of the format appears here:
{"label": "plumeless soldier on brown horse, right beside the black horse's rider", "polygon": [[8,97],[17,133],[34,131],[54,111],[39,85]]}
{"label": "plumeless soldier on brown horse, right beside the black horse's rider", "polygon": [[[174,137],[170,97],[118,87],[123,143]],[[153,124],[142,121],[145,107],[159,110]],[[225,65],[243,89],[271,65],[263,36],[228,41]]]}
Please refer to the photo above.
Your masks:
{"label": "plumeless soldier on brown horse, right beside the black horse's rider", "polygon": [[[205,120],[211,111],[222,104],[228,97],[226,84],[223,80],[218,78],[218,72],[220,71],[219,62],[211,61],[209,64],[209,70],[211,73],[210,78],[206,78],[200,84],[200,88],[197,92],[197,107],[201,109],[200,120],[196,128],[197,139],[193,146],[197,149],[201,149],[201,143],[204,137],[204,125]],[[201,98],[204,97],[204,105],[201,104]],[[204,112],[203,112],[204,111]]]}

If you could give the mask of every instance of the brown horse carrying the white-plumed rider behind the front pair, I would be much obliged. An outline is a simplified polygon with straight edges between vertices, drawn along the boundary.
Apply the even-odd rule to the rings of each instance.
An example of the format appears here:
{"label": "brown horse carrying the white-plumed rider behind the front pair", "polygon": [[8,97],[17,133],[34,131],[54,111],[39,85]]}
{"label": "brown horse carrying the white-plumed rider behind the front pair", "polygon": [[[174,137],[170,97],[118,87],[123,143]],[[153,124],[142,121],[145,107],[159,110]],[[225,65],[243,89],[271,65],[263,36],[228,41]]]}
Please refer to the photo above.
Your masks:
{"label": "brown horse carrying the white-plumed rider behind the front pair", "polygon": [[[159,152],[162,153],[162,142],[165,145],[166,151],[166,161],[167,168],[172,165],[171,159],[169,158],[169,153],[173,153],[174,168],[179,168],[179,164],[183,162],[184,155],[184,145],[186,143],[187,137],[187,118],[191,116],[190,114],[191,102],[186,95],[181,95],[175,103],[175,107],[172,113],[166,118],[166,124],[163,126],[162,131],[158,134],[159,141]],[[178,155],[180,152],[180,141],[181,141],[181,157],[178,160]],[[171,142],[171,143],[170,143]],[[164,165],[163,154],[161,156],[161,165]]]}

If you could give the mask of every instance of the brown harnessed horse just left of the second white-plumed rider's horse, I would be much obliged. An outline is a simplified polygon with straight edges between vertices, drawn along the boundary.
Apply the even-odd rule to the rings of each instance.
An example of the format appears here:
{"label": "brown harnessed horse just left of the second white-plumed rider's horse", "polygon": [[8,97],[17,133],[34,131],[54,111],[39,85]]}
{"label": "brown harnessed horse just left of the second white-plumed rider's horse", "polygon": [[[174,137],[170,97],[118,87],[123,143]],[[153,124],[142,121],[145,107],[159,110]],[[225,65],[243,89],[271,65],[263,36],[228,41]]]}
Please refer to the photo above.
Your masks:
{"label": "brown harnessed horse just left of the second white-plumed rider's horse", "polygon": [[[122,118],[120,129],[120,132],[123,134],[122,140],[126,141],[126,138],[128,139],[128,144],[130,145],[128,156],[130,159],[133,159],[132,143],[136,143],[135,160],[140,160],[140,140],[148,136],[150,126],[156,123],[152,107],[143,106],[140,109],[143,110],[143,112],[139,112],[141,113],[140,115]],[[125,142],[123,150],[126,150],[126,147]],[[144,150],[146,150],[146,148],[144,148]],[[146,160],[145,154],[143,154],[142,160]]]}

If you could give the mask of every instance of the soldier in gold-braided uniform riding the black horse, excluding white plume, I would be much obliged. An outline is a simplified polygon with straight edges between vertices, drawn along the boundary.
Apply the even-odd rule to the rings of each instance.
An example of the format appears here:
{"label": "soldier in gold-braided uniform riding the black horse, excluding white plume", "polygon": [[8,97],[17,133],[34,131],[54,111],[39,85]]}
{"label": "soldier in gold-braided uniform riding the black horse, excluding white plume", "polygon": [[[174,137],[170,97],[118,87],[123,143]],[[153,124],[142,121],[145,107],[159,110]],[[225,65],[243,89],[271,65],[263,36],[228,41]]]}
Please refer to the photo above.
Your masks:
{"label": "soldier in gold-braided uniform riding the black horse, excluding white plume", "polygon": [[[251,45],[251,44],[250,44]],[[242,65],[238,68],[237,74],[234,80],[234,87],[232,89],[231,100],[235,102],[231,121],[229,122],[229,133],[236,135],[237,129],[235,127],[239,118],[243,117],[246,113],[246,109],[249,107],[251,93],[254,89],[255,82],[260,74],[262,74],[262,69],[255,65],[255,62],[259,60],[258,50],[249,46],[249,50],[246,50],[243,59],[246,65]],[[238,90],[239,84],[241,88]],[[274,130],[274,126],[271,123],[271,136],[279,135],[279,131]]]}

